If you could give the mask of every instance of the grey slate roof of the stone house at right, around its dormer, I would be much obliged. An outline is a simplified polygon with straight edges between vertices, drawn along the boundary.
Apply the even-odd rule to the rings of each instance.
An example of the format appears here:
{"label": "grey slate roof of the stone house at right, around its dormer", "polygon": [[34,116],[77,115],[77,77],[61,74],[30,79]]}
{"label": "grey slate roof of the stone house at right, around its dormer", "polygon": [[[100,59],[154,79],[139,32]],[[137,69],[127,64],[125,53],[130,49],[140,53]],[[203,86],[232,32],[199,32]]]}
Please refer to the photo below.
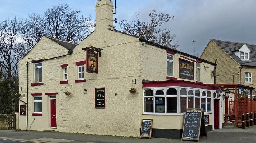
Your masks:
{"label": "grey slate roof of the stone house at right, around its dormer", "polygon": [[[241,66],[253,66],[256,67],[256,45],[238,42],[221,41],[216,39],[211,39],[215,42],[221,49],[223,49],[229,56],[231,56],[237,63]],[[243,44],[246,44],[250,49],[250,60],[241,60],[240,57],[236,56],[232,51],[239,50]],[[240,46],[240,47],[239,47]],[[230,51],[231,49],[231,51]]]}

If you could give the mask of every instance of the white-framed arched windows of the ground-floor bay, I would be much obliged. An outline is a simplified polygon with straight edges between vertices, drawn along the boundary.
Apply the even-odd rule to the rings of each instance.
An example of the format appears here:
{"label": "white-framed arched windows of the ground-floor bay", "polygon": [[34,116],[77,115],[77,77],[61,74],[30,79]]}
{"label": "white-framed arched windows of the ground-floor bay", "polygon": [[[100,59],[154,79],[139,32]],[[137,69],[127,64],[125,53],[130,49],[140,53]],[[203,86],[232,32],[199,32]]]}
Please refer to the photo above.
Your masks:
{"label": "white-framed arched windows of the ground-floor bay", "polygon": [[145,89],[144,113],[184,114],[186,108],[203,108],[204,112],[211,112],[212,93],[179,87]]}

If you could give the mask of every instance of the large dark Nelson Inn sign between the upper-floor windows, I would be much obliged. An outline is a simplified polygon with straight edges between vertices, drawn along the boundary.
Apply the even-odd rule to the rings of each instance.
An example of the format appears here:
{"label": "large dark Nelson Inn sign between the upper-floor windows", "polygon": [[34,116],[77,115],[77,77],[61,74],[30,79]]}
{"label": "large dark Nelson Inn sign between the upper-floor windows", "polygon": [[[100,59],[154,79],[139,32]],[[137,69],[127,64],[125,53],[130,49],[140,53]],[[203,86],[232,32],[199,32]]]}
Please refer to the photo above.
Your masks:
{"label": "large dark Nelson Inn sign between the upper-floor windows", "polygon": [[179,59],[179,77],[194,80],[194,63]]}

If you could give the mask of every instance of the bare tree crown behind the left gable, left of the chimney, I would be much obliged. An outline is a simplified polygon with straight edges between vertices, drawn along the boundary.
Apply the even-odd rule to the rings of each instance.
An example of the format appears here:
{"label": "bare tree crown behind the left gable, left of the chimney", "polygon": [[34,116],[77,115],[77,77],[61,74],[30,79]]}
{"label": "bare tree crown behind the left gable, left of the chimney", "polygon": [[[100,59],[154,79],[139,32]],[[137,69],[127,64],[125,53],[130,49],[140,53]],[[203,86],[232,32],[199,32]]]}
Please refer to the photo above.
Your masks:
{"label": "bare tree crown behind the left gable, left of the chimney", "polygon": [[71,10],[69,4],[48,8],[44,15],[29,15],[24,21],[22,38],[30,49],[42,38],[49,35],[74,43],[80,43],[94,29],[91,16],[80,17],[80,11]]}

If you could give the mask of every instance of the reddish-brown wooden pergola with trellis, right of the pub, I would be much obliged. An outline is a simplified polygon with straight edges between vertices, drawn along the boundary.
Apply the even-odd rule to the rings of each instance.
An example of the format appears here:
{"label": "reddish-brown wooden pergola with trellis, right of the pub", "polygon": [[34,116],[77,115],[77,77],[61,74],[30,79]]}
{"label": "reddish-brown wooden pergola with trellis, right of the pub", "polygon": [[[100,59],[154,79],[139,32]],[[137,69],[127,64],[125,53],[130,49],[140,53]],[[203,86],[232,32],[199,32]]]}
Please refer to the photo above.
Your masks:
{"label": "reddish-brown wooden pergola with trellis, right of the pub", "polygon": [[[219,86],[222,90],[226,90],[228,88],[229,91],[233,91],[235,97],[233,101],[229,102],[229,113],[225,114],[235,114],[235,124],[238,126],[239,122],[242,122],[242,113],[246,114],[247,112],[256,111],[256,102],[252,100],[252,91],[253,87],[241,85],[241,84],[214,84],[215,86]],[[245,90],[245,99],[240,99],[239,96]],[[248,100],[248,96],[250,95],[250,100]],[[225,109],[228,107],[225,106]]]}

